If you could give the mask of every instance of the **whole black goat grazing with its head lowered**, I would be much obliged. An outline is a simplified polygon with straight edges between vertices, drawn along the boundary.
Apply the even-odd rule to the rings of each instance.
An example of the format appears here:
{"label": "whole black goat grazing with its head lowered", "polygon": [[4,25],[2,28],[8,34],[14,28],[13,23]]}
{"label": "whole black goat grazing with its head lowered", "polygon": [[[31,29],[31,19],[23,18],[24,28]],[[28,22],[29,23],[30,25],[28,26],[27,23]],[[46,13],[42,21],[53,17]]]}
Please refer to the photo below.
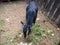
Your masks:
{"label": "whole black goat grazing with its head lowered", "polygon": [[38,12],[38,6],[36,2],[31,1],[26,8],[26,24],[23,27],[23,34],[25,38],[30,34],[32,24],[35,24],[37,18],[37,12]]}

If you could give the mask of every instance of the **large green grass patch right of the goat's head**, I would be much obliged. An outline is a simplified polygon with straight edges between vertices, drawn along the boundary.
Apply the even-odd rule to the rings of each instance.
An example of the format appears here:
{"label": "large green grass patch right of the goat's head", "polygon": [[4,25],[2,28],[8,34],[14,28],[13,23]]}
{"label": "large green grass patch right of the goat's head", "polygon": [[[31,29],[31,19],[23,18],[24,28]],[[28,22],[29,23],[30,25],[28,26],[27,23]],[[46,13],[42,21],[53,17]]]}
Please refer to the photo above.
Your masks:
{"label": "large green grass patch right of the goat's head", "polygon": [[[49,32],[48,32],[49,31]],[[40,43],[40,41],[46,36],[48,39],[50,39],[52,36],[51,34],[54,34],[55,32],[53,30],[46,30],[39,24],[35,24],[32,27],[32,31],[30,34],[30,37],[32,39],[33,43]],[[37,45],[37,44],[36,44]]]}

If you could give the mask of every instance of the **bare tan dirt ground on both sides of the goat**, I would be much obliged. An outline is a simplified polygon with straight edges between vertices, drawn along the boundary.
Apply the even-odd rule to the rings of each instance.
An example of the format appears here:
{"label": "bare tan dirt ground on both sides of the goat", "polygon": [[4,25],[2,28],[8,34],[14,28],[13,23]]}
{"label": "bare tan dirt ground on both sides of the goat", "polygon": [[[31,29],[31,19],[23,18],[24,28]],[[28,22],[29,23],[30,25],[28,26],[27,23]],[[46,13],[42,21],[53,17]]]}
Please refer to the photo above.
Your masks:
{"label": "bare tan dirt ground on both sides of the goat", "polygon": [[[0,25],[0,29],[4,30],[4,32],[0,35],[0,45],[21,45],[20,43],[24,41],[23,37],[17,37],[17,41],[13,41],[13,43],[11,43],[16,35],[19,36],[18,34],[20,33],[20,30],[22,30],[22,24],[20,22],[25,22],[26,6],[27,4],[25,2],[10,2],[0,4],[0,19],[5,21],[4,25]],[[46,21],[45,23],[44,20]],[[41,43],[46,42],[46,44],[42,45],[53,45],[52,42],[54,40],[60,40],[60,31],[57,31],[56,27],[49,23],[47,18],[41,13],[40,10],[38,11],[36,22],[47,30],[52,29],[56,32],[54,39],[51,39],[48,42],[43,40]],[[12,37],[12,40],[10,40],[11,42],[9,41],[9,37]]]}

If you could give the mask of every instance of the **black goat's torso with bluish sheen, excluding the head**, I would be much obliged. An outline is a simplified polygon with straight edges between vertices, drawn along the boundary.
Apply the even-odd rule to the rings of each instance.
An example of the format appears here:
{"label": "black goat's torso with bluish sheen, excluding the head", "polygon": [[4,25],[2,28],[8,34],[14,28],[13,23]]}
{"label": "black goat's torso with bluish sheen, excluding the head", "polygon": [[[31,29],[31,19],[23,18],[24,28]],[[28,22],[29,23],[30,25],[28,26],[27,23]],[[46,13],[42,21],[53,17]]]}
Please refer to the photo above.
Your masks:
{"label": "black goat's torso with bluish sheen, excluding the head", "polygon": [[38,7],[35,1],[29,3],[26,9],[26,20],[28,25],[35,23],[37,18]]}

